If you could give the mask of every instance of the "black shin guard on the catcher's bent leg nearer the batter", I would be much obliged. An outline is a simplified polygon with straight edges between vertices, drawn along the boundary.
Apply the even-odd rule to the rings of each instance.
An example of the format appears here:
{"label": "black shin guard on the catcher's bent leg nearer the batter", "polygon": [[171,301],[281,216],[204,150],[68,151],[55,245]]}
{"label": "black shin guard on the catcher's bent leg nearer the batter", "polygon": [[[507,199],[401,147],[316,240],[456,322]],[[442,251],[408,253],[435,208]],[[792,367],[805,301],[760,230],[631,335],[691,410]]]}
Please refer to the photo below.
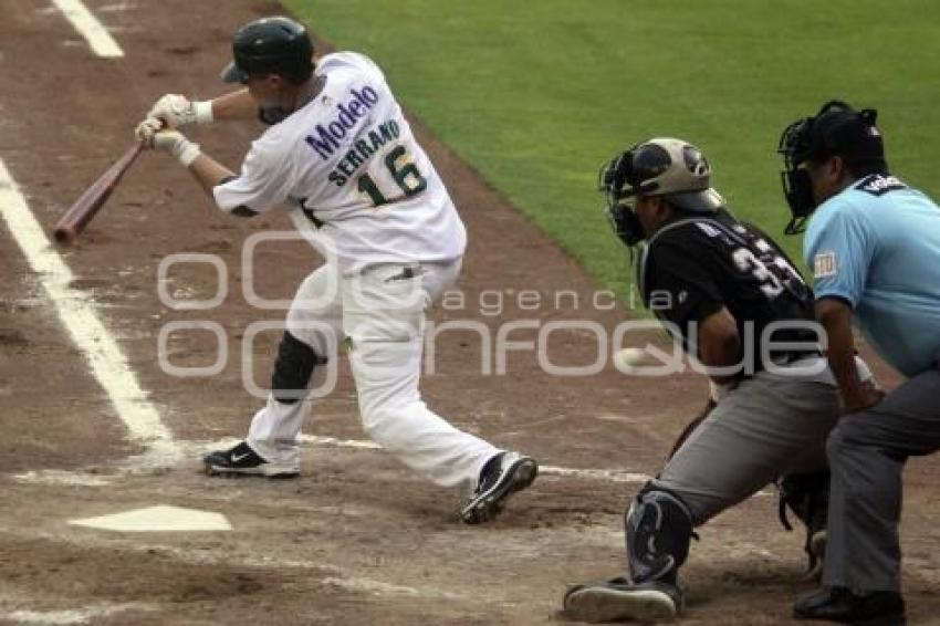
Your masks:
{"label": "black shin guard on the catcher's bent leg nearer the batter", "polygon": [[633,582],[662,581],[677,585],[679,567],[689,555],[689,543],[694,535],[686,503],[648,482],[630,503],[624,523]]}

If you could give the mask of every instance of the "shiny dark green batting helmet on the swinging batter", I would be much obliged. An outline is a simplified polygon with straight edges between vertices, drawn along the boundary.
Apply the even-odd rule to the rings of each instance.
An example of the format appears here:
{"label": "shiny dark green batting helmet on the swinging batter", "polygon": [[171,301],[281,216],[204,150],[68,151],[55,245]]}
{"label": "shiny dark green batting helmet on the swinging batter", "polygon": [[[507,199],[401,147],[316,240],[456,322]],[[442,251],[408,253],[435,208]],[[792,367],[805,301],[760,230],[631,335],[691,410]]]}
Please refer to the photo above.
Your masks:
{"label": "shiny dark green batting helmet on the swinging batter", "polygon": [[313,73],[313,42],[303,24],[290,18],[262,18],[232,38],[232,58],[222,81],[246,83],[251,74],[280,74],[302,83]]}

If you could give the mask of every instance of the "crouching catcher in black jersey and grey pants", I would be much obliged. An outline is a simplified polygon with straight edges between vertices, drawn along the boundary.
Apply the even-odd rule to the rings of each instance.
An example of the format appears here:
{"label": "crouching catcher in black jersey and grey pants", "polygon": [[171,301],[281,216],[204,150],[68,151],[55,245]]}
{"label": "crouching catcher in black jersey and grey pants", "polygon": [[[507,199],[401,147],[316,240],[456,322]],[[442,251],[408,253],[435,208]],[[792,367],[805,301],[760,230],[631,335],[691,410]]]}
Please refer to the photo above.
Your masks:
{"label": "crouching catcher in black jersey and grey pants", "polygon": [[711,410],[630,502],[629,574],[568,590],[577,619],[677,615],[693,529],[781,478],[807,547],[822,549],[838,398],[813,294],[773,240],[733,218],[710,175],[704,156],[673,138],[636,145],[603,170],[617,234],[630,247],[646,240],[644,302],[708,367]]}

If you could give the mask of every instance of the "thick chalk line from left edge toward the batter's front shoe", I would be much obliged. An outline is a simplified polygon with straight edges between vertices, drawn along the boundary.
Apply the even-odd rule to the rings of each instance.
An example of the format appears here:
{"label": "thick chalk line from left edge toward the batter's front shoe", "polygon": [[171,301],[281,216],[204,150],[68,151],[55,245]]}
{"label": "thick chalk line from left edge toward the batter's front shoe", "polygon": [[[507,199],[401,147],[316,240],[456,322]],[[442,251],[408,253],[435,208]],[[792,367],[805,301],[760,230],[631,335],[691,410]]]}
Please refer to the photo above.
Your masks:
{"label": "thick chalk line from left edge toward the batter's front shoe", "polygon": [[173,435],[137,383],[127,357],[97,317],[91,295],[70,288],[74,279],[72,271],[30,211],[2,159],[0,215],[132,438],[148,446],[156,456],[173,458]]}

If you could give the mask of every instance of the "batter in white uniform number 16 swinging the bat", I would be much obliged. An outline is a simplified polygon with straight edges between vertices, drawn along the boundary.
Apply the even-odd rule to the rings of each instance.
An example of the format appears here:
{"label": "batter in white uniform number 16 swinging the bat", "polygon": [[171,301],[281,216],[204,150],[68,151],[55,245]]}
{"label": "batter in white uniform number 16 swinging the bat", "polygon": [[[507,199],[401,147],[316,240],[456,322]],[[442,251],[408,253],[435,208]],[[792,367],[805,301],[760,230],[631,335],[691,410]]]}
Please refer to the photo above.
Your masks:
{"label": "batter in white uniform number 16 swinging the bat", "polygon": [[[458,430],[421,401],[426,312],[455,284],[467,244],[440,177],[366,56],[316,62],[306,30],[288,18],[243,25],[232,49],[222,79],[247,90],[211,102],[166,95],[137,135],[175,156],[223,211],[251,217],[288,205],[326,263],[297,290],[267,406],[243,442],[205,457],[207,471],[297,476],[314,373],[343,345],[368,436],[437,484],[466,489],[464,522],[490,520],[532,483],[537,466]],[[270,127],[238,175],[176,129],[259,109]]]}

